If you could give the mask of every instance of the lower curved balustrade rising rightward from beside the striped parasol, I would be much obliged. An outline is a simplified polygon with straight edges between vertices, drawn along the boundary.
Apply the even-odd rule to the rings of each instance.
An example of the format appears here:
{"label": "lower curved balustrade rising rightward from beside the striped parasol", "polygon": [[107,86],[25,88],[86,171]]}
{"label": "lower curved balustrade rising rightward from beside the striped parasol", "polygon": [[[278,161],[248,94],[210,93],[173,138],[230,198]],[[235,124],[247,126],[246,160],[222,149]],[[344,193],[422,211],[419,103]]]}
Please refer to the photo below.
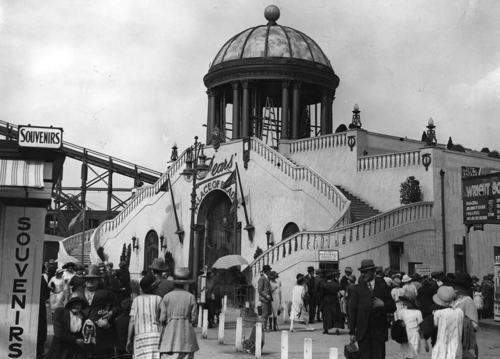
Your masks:
{"label": "lower curved balustrade rising rightward from beside the striped parasol", "polygon": [[297,232],[264,251],[248,266],[248,270],[255,277],[265,264],[273,265],[298,250],[335,248],[364,240],[403,224],[431,219],[433,208],[433,202],[412,203],[335,230]]}

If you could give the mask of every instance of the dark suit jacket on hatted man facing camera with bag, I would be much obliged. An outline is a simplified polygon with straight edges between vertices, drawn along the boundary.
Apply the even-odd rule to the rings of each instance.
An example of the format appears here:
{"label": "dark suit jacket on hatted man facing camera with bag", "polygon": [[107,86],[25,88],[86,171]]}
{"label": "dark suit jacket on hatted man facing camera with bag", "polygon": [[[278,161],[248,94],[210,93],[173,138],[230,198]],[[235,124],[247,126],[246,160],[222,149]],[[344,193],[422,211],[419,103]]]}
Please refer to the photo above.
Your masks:
{"label": "dark suit jacket on hatted man facing camera with bag", "polygon": [[[392,300],[390,288],[382,282],[375,282],[373,292],[370,292],[365,282],[352,288],[349,299],[349,334],[356,334],[358,341],[362,340],[367,330],[378,341],[389,340],[387,314],[394,313],[396,304]],[[381,308],[372,308],[374,298],[384,302]]]}

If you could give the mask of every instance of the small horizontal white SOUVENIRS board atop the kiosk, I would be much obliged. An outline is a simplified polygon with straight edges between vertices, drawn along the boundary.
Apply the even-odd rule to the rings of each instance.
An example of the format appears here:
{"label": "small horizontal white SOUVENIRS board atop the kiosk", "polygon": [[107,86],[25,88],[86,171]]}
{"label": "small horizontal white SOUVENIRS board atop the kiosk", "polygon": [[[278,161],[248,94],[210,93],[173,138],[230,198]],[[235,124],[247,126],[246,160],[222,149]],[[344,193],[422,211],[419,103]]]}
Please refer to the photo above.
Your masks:
{"label": "small horizontal white SOUVENIRS board atop the kiosk", "polygon": [[17,145],[21,148],[60,149],[63,129],[60,127],[18,126]]}

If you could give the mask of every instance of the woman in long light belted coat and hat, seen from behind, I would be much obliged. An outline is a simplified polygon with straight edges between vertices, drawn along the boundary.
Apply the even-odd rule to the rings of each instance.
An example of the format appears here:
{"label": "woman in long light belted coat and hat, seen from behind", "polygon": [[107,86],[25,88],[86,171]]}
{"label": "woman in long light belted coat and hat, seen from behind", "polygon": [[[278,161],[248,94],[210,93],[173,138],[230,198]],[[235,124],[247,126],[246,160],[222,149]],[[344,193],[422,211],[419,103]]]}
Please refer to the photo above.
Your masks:
{"label": "woman in long light belted coat and hat, seen from behind", "polygon": [[188,268],[174,271],[174,290],[161,300],[160,323],[164,326],[160,338],[160,358],[191,359],[199,350],[193,323],[197,323],[196,298],[184,286],[192,284]]}

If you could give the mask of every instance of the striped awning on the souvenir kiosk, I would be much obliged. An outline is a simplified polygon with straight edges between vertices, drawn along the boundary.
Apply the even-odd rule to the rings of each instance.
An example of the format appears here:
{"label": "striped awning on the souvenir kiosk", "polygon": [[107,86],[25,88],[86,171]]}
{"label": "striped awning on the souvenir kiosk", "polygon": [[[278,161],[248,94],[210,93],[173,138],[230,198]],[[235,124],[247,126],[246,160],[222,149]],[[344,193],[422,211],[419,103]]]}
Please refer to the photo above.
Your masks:
{"label": "striped awning on the souvenir kiosk", "polygon": [[0,159],[0,187],[44,187],[44,161]]}

